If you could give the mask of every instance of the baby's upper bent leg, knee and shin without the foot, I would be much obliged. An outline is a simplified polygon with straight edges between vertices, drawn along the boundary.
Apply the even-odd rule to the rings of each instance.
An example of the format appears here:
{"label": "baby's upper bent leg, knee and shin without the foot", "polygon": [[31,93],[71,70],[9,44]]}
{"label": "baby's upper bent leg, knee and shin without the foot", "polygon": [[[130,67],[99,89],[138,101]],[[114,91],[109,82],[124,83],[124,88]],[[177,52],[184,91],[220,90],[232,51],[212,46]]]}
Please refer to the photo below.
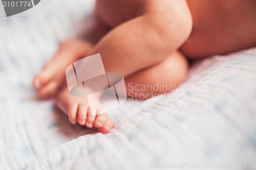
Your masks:
{"label": "baby's upper bent leg, knee and shin without the foot", "polygon": [[[109,25],[113,23],[113,16],[124,22],[113,23],[114,28],[100,39],[90,54],[101,54],[106,72],[120,72],[128,77],[151,67],[177,51],[191,33],[193,22],[185,0],[122,1],[127,6],[138,3],[133,8],[137,9],[134,15],[125,15],[124,11],[129,11],[126,5],[111,10],[112,5],[120,1],[111,2],[98,1],[100,17]],[[125,21],[127,16],[134,18]]]}

